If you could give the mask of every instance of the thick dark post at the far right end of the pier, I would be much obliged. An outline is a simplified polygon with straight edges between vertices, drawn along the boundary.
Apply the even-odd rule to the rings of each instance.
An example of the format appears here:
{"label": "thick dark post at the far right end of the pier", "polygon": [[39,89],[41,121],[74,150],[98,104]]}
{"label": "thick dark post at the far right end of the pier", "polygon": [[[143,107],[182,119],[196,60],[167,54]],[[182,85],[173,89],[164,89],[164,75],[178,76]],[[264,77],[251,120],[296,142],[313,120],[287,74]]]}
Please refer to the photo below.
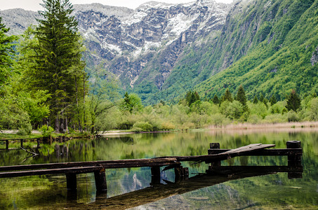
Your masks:
{"label": "thick dark post at the far right end of the pier", "polygon": [[[301,142],[300,141],[287,141],[286,142],[286,148],[301,148]],[[288,166],[289,167],[301,167],[301,156],[302,155],[296,155],[291,154],[288,155]],[[288,174],[289,179],[298,179],[302,178],[303,174],[296,172],[296,173],[289,173]]]}

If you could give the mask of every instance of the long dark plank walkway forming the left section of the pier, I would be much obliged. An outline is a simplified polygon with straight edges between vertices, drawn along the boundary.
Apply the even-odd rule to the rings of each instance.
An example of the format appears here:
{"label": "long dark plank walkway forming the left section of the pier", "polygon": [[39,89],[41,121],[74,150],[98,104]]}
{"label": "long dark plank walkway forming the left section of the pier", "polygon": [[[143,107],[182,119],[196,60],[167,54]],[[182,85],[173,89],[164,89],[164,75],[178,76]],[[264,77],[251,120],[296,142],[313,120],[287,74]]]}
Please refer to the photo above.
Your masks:
{"label": "long dark plank walkway forming the left section of the pier", "polygon": [[0,167],[0,172],[32,169],[55,169],[68,167],[102,166],[105,169],[124,167],[152,167],[165,165],[180,165],[176,158],[156,158],[156,159],[128,159],[128,160],[102,160],[88,162],[62,162],[38,165],[15,165]]}

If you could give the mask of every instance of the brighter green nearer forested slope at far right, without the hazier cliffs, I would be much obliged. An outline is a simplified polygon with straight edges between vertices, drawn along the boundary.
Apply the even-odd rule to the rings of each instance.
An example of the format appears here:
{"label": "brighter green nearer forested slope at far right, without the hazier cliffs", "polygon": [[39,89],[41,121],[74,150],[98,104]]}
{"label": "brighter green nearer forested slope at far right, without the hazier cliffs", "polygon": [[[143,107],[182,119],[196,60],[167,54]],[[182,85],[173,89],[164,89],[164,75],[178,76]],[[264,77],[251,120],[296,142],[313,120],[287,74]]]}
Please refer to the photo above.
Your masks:
{"label": "brighter green nearer forested slope at far right, without the hazier cliffs", "polygon": [[275,18],[260,25],[253,41],[265,36],[261,29],[270,24],[272,29],[267,30],[264,41],[225,71],[199,84],[200,93],[213,97],[227,87],[237,90],[239,85],[249,99],[260,94],[281,99],[292,89],[301,96],[317,93],[318,1],[282,1]]}

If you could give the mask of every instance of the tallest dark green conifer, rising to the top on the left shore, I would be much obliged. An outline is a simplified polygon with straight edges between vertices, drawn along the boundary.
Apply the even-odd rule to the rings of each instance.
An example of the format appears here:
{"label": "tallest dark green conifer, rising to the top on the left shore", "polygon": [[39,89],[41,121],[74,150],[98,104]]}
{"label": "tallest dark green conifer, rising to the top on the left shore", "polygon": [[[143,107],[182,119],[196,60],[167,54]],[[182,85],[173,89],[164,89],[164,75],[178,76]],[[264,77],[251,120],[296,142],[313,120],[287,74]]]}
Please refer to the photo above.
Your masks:
{"label": "tallest dark green conifer, rising to the top on the left shore", "polygon": [[45,10],[39,14],[43,19],[37,20],[35,32],[35,68],[28,73],[32,87],[51,94],[51,119],[55,119],[55,131],[59,132],[67,130],[67,118],[72,118],[74,108],[79,109],[79,98],[84,100],[85,64],[72,4],[69,0],[47,0],[42,6]]}

